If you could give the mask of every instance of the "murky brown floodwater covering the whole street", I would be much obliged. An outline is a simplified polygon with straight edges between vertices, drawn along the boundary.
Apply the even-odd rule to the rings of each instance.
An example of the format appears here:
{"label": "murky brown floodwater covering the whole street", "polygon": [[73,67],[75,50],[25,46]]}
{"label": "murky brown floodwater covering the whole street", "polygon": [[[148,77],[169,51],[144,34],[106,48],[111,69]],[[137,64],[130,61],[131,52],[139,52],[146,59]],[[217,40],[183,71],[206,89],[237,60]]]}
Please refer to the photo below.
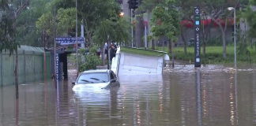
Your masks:
{"label": "murky brown floodwater covering the whole street", "polygon": [[256,66],[177,65],[163,76],[119,76],[112,90],[72,91],[71,80],[22,84],[18,100],[14,86],[0,88],[0,125],[256,124]]}

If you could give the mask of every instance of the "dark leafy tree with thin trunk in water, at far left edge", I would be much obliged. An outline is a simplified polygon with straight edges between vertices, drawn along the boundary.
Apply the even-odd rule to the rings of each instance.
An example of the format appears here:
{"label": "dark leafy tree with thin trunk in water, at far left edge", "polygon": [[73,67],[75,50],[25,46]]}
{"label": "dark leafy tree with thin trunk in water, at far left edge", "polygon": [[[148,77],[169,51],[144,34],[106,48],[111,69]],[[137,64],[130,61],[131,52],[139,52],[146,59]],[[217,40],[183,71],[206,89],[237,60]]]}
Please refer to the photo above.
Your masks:
{"label": "dark leafy tree with thin trunk in water, at far left edge", "polygon": [[0,17],[0,51],[9,50],[9,55],[15,53],[15,68],[14,68],[14,81],[16,89],[16,98],[19,98],[18,93],[18,77],[17,77],[17,66],[18,66],[18,47],[20,44],[17,42],[16,28],[17,28],[17,19],[22,12],[29,5],[29,0],[21,2],[21,6],[16,6],[13,3],[9,3],[7,0],[1,1],[0,12],[2,17]]}

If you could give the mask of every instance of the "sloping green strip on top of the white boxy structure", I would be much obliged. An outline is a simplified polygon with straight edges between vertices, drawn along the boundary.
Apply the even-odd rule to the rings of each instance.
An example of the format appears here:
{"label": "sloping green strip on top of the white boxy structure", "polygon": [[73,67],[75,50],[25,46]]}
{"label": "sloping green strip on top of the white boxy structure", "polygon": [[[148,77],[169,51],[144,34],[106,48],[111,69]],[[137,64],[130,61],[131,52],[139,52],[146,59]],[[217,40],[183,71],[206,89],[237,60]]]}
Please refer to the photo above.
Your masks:
{"label": "sloping green strip on top of the white boxy structure", "polygon": [[135,49],[135,48],[128,48],[124,46],[121,47],[121,51],[125,53],[140,54],[140,55],[149,56],[149,57],[163,57],[165,54],[165,53],[155,52],[152,50]]}

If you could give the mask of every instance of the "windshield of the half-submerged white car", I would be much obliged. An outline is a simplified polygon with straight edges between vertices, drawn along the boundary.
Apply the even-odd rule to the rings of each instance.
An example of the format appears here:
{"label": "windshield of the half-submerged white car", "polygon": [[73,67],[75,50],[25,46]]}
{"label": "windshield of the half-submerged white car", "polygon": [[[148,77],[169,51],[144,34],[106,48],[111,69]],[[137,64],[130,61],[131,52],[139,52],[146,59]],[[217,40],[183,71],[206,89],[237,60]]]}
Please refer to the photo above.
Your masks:
{"label": "windshield of the half-submerged white car", "polygon": [[82,73],[77,83],[105,83],[108,81],[107,72],[88,72]]}

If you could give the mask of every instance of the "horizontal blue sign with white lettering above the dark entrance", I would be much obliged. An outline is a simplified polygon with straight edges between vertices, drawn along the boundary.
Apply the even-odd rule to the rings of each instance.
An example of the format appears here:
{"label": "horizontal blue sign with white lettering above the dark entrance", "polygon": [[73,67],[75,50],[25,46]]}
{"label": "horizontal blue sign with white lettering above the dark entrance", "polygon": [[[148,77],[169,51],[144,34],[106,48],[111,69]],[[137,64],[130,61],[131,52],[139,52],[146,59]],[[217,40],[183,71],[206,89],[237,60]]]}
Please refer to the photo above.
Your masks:
{"label": "horizontal blue sign with white lettering above the dark entrance", "polygon": [[56,43],[61,44],[74,44],[74,43],[85,43],[84,37],[58,37],[55,39]]}

